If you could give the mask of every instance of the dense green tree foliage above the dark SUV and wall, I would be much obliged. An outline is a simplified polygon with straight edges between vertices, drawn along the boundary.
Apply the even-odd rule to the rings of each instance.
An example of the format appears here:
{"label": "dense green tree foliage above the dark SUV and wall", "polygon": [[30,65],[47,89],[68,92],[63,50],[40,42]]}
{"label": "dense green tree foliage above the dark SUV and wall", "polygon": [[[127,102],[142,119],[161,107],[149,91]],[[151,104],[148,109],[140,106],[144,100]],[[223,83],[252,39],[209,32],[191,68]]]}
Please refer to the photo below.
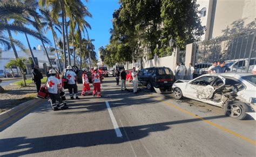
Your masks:
{"label": "dense green tree foliage above the dark SUV and wall", "polygon": [[196,1],[120,0],[120,4],[113,13],[104,63],[142,58],[145,47],[149,49],[149,58],[154,54],[171,55],[170,39],[176,41],[173,47],[184,49],[203,34]]}

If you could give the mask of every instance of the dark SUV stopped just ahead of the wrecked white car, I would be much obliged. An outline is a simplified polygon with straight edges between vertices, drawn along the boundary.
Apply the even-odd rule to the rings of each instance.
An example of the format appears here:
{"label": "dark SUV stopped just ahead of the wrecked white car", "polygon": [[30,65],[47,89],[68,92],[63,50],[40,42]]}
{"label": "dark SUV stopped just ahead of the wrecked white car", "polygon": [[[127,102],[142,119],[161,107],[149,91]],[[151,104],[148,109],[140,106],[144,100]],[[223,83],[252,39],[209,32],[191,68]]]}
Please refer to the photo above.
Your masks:
{"label": "dark SUV stopped just ahead of the wrecked white car", "polygon": [[141,69],[138,74],[139,84],[157,92],[171,92],[174,82],[173,72],[167,67],[151,67]]}

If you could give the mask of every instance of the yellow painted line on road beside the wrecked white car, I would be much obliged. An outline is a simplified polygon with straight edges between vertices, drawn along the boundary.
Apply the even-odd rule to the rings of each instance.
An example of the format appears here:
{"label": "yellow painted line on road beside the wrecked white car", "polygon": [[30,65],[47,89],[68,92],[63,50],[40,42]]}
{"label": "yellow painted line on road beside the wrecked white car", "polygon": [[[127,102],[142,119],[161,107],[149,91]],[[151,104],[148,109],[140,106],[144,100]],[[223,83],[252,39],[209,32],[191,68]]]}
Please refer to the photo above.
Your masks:
{"label": "yellow painted line on road beside the wrecked white car", "polygon": [[249,142],[250,144],[256,145],[256,141],[253,140],[253,139],[244,137],[243,135],[240,135],[240,134],[238,134],[238,133],[236,133],[236,132],[234,132],[234,131],[232,131],[232,130],[226,129],[225,127],[223,127],[223,126],[221,126],[221,125],[219,125],[219,124],[213,123],[213,122],[211,122],[211,121],[209,121],[209,120],[206,120],[206,119],[204,119],[204,118],[202,118],[202,117],[200,117],[200,116],[194,115],[194,113],[191,113],[191,112],[189,112],[189,111],[187,111],[187,110],[184,110],[184,109],[180,108],[180,107],[177,106],[177,105],[174,105],[174,104],[172,104],[172,103],[169,103],[169,102],[166,102],[166,101],[164,101],[164,100],[161,100],[160,98],[156,98],[156,99],[157,99],[158,101],[160,101],[160,102],[163,102],[163,103],[166,104],[166,105],[172,106],[173,108],[175,108],[175,109],[177,109],[177,110],[179,110],[179,111],[181,111],[181,112],[183,112],[183,113],[187,113],[188,115],[191,115],[191,116],[193,116],[193,117],[196,117],[196,118],[198,118],[198,119],[201,119],[203,122],[205,122],[205,123],[207,123],[207,124],[210,124],[210,125],[212,125],[212,126],[215,126],[215,127],[217,127],[218,129],[223,130],[223,131],[225,131],[225,132],[227,132],[227,133],[230,133],[230,134],[234,135],[235,137],[241,138],[241,139],[243,139],[243,140]]}

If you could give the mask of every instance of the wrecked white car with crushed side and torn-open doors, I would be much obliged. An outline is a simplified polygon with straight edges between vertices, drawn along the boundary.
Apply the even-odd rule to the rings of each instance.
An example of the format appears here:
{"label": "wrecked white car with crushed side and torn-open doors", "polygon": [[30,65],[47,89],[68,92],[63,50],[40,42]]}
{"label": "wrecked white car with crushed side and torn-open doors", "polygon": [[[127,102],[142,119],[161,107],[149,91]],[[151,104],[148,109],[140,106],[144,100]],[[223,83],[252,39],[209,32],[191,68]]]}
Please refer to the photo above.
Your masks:
{"label": "wrecked white car with crushed side and torn-open doors", "polygon": [[191,98],[219,106],[226,116],[244,119],[256,111],[256,75],[206,74],[193,80],[178,80],[172,85],[173,96]]}

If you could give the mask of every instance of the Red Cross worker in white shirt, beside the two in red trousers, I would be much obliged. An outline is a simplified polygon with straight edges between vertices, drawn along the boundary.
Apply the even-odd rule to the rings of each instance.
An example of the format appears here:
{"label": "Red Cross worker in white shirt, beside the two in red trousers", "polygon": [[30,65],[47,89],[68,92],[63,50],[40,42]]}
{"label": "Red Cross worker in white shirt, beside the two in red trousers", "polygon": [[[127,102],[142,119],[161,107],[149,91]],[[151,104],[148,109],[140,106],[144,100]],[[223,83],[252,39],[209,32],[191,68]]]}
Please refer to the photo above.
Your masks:
{"label": "Red Cross worker in white shirt, beside the two in red trousers", "polygon": [[[72,67],[68,66],[66,68],[66,73],[64,74],[65,79],[68,80],[68,88],[69,88],[69,95],[71,99],[74,99],[74,96],[76,99],[80,99],[78,97],[78,92],[77,92],[77,75],[75,72],[73,72]],[[73,93],[74,91],[74,93]]]}

